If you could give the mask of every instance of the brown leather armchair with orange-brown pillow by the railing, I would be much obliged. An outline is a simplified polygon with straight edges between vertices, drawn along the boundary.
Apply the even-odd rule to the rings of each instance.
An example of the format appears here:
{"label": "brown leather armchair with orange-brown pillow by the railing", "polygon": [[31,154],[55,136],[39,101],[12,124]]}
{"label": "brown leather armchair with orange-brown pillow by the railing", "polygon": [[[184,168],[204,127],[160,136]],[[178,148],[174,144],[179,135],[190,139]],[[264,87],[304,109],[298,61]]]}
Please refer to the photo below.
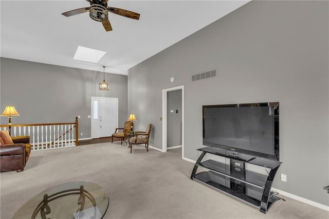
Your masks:
{"label": "brown leather armchair with orange-brown pillow by the railing", "polygon": [[0,172],[24,170],[31,152],[30,136],[11,137],[14,144],[0,145]]}

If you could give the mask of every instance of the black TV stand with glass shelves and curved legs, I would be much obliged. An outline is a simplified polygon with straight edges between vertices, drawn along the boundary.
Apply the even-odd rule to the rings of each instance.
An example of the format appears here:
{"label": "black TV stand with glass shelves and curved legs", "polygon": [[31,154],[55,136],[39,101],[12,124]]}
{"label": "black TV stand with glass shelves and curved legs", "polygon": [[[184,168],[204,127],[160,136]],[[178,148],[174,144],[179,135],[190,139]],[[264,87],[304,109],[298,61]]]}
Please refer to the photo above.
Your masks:
{"label": "black TV stand with glass shelves and curved legs", "polygon": [[[202,151],[202,154],[195,163],[191,179],[257,206],[263,213],[266,213],[271,205],[279,200],[270,190],[281,162],[244,154],[232,157],[230,151],[227,152],[226,150],[212,147],[197,150]],[[202,161],[207,153],[229,158],[230,164],[212,159]],[[264,175],[246,170],[246,163],[268,168],[270,171],[268,175]],[[196,173],[198,167],[207,171]]]}

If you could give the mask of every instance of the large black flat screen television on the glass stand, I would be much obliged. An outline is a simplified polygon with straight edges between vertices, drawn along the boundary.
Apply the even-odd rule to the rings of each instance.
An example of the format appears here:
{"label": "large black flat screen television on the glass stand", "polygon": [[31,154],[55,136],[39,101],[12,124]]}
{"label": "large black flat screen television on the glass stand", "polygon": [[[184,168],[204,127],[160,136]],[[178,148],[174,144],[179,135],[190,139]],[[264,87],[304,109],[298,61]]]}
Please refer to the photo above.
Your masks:
{"label": "large black flat screen television on the glass stand", "polygon": [[279,160],[279,102],[204,105],[203,144]]}

